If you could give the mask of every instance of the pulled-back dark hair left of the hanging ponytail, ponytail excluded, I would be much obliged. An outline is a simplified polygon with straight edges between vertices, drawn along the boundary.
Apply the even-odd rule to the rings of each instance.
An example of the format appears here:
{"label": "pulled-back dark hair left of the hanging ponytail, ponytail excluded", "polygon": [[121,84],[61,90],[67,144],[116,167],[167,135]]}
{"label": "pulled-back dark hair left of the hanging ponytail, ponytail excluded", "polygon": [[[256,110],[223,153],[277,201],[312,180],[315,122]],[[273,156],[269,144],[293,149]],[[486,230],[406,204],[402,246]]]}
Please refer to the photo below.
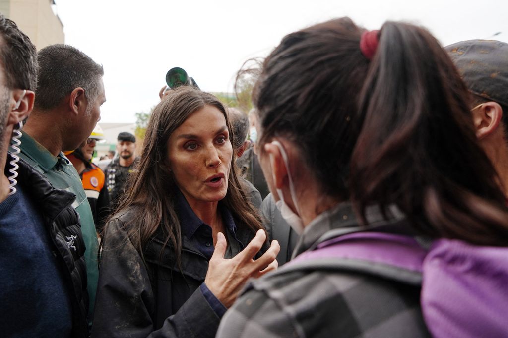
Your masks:
{"label": "pulled-back dark hair left of the hanging ponytail, ponytail excluded", "polygon": [[349,197],[356,97],[368,70],[361,33],[345,18],[289,34],[264,61],[253,90],[260,143],[294,141],[323,192],[341,199]]}

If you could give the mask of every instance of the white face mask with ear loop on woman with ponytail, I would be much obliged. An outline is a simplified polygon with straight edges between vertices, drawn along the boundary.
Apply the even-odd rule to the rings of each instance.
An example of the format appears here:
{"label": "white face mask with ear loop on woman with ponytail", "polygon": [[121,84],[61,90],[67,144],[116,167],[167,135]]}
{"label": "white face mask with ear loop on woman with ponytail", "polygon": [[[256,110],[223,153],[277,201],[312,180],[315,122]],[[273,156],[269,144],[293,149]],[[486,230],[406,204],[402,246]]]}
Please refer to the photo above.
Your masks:
{"label": "white face mask with ear loop on woman with ponytail", "polygon": [[[286,154],[284,147],[280,144],[278,141],[273,141],[272,144],[276,145],[280,153],[282,154],[282,159],[284,160],[284,165],[286,167],[286,171],[288,172],[288,180],[289,180],[289,189],[291,193],[291,199],[293,201],[293,205],[296,208],[296,211],[301,214],[300,209],[298,208],[298,204],[296,202],[296,193],[295,193],[295,187],[293,185],[293,180],[291,179],[291,173],[289,171],[289,165],[288,165],[288,155]],[[273,182],[275,184],[275,175],[273,174],[273,155],[270,154],[270,165],[273,175]],[[288,222],[288,224],[293,228],[293,230],[296,231],[296,233],[301,234],[303,232],[303,221],[291,210],[291,208],[288,206],[288,204],[284,201],[284,196],[282,195],[282,190],[277,189],[277,195],[279,196],[279,200],[275,202],[275,205],[277,206],[277,209],[280,211],[280,215],[282,218]]]}

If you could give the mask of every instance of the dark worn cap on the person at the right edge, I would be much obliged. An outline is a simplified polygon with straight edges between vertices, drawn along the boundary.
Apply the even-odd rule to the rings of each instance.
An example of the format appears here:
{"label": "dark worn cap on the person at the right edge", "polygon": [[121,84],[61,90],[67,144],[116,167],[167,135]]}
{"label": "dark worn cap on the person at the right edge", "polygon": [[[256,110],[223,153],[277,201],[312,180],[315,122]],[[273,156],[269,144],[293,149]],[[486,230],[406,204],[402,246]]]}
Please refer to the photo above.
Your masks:
{"label": "dark worn cap on the person at the right edge", "polygon": [[472,93],[508,107],[508,44],[467,40],[444,49]]}

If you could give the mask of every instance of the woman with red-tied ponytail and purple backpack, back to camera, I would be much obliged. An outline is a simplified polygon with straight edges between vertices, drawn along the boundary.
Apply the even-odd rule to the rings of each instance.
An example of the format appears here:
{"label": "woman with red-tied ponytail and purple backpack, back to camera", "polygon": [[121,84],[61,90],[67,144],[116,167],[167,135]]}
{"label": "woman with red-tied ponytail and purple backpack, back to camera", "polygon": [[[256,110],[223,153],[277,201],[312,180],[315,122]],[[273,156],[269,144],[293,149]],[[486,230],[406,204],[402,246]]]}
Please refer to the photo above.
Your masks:
{"label": "woman with red-tied ponytail and purple backpack, back to camera", "polygon": [[422,27],[340,18],[284,37],[253,101],[263,171],[300,238],[217,337],[506,335],[508,213],[469,99]]}

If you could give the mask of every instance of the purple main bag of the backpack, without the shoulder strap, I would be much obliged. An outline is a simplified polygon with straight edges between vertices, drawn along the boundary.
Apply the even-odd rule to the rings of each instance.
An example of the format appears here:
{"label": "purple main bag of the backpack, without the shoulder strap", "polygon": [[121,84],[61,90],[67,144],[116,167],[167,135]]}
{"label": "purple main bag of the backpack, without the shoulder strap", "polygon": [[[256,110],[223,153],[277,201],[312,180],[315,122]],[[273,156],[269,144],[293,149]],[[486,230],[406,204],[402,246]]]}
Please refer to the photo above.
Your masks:
{"label": "purple main bag of the backpack, without the shoulder strap", "polygon": [[434,337],[508,337],[508,248],[441,239],[423,269],[420,302]]}

